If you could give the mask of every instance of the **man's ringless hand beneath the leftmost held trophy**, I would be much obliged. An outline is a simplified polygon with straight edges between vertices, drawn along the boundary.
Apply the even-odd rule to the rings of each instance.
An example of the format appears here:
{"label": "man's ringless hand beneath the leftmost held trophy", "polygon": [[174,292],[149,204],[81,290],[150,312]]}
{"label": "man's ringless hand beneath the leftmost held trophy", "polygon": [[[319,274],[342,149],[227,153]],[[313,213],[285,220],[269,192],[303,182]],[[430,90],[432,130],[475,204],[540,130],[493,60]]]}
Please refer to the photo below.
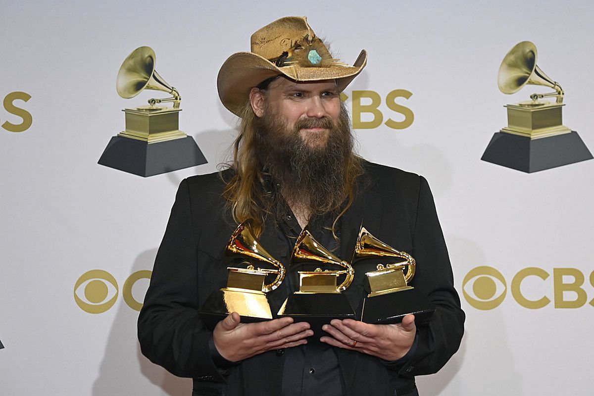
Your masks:
{"label": "man's ringless hand beneath the leftmost held trophy", "polygon": [[247,359],[271,349],[307,344],[313,335],[307,322],[293,323],[292,318],[259,323],[240,323],[237,312],[230,313],[213,331],[214,346],[231,362]]}

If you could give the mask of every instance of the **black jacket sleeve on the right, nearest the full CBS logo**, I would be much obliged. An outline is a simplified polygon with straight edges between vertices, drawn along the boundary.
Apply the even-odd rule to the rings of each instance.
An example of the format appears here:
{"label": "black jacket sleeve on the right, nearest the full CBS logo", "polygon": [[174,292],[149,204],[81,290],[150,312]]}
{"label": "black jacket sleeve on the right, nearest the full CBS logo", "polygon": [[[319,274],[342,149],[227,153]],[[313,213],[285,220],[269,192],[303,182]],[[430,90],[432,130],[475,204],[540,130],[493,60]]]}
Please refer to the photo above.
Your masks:
{"label": "black jacket sleeve on the right, nearest the full CBS logo", "polygon": [[417,329],[416,349],[399,368],[399,374],[405,377],[437,372],[456,353],[464,334],[465,313],[454,289],[450,259],[433,196],[422,176],[412,245],[412,255],[417,263],[412,286],[428,296],[437,309],[429,324]]}

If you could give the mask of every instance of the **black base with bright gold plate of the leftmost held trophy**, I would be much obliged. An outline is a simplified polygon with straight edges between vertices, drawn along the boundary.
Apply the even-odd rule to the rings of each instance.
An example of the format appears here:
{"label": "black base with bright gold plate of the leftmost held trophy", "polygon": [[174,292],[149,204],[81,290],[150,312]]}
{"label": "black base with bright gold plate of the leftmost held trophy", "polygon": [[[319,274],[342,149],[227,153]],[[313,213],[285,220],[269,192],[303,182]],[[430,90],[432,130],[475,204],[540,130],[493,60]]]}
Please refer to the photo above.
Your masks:
{"label": "black base with bright gold plate of the leftmost held trophy", "polygon": [[225,319],[231,312],[239,313],[242,323],[269,321],[272,319],[266,294],[248,290],[220,289],[211,294],[198,312],[208,330]]}

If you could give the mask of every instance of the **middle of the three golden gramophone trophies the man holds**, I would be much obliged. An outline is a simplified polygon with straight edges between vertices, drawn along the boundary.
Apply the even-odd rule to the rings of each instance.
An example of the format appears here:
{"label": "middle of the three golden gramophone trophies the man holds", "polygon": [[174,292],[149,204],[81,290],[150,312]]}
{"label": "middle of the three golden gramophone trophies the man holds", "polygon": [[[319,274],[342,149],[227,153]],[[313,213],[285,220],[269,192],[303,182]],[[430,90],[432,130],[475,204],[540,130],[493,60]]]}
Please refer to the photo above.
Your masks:
{"label": "middle of the three golden gramophone trophies the man holds", "polygon": [[[344,270],[298,271],[299,291],[289,294],[278,312],[279,316],[290,316],[295,321],[305,321],[314,331],[312,342],[317,342],[324,324],[331,319],[355,319],[355,311],[350,306],[344,292],[353,281],[355,270],[346,261],[324,248],[309,230],[305,228],[295,243],[291,255],[292,268],[302,264],[337,265]],[[339,276],[344,275],[342,283],[337,285]]]}

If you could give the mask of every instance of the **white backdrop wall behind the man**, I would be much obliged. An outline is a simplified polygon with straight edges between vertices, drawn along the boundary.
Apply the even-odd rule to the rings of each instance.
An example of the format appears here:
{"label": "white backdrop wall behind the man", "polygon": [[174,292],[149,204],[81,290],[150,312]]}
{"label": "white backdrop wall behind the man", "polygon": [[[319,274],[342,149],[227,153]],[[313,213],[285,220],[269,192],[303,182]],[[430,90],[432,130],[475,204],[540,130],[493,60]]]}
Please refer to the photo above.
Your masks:
{"label": "white backdrop wall behind the man", "polygon": [[[546,91],[505,96],[497,88],[503,56],[522,40],[536,44],[539,65],[563,85],[564,124],[594,148],[590,2],[3,1],[0,10],[0,99],[29,94],[14,105],[32,117],[23,132],[0,126],[0,394],[191,393],[189,379],[141,356],[138,312],[124,294],[142,301],[148,280],[125,283],[151,270],[178,183],[226,159],[236,119],[217,97],[220,65],[285,15],[308,15],[345,62],[368,50],[368,66],[345,91],[347,106],[353,91],[374,91],[384,122],[403,121],[386,97],[412,93],[396,99],[412,111],[410,126],[355,132],[366,159],[428,178],[457,289],[467,291],[460,351],[437,375],[418,378],[421,393],[592,394],[594,161],[527,174],[480,160],[506,125],[503,105]],[[181,92],[181,129],[208,164],[150,178],[97,164],[124,128],[121,109],[159,97],[116,94],[121,62],[141,45],[153,47],[157,70]],[[23,120],[0,106],[0,125],[6,121]],[[479,274],[497,293],[487,287],[477,297],[476,278],[463,280],[484,266],[498,271],[487,280]],[[511,285],[524,268],[531,276],[517,297]],[[103,313],[75,302],[75,293],[84,297],[84,284],[75,284],[90,270],[115,280],[96,303],[115,298]],[[567,284],[580,275],[572,292]],[[475,308],[497,296],[499,305]],[[522,296],[551,302],[529,309]]]}

